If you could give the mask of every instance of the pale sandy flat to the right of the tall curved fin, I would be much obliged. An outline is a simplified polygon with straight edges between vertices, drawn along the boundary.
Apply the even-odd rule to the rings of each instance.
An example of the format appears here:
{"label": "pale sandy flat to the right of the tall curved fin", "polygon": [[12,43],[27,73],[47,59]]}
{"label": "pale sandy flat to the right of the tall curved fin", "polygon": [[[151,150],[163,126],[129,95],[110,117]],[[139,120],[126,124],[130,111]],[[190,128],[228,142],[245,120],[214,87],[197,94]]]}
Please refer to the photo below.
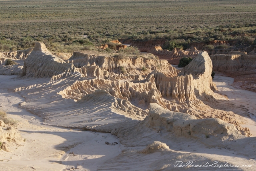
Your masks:
{"label": "pale sandy flat to the right of the tall curved fin", "polygon": [[236,106],[243,107],[250,112],[250,118],[244,117],[242,127],[250,128],[252,136],[256,136],[256,93],[248,90],[237,89],[231,84],[234,78],[226,77],[222,73],[216,73],[214,83],[221,94],[226,95]]}

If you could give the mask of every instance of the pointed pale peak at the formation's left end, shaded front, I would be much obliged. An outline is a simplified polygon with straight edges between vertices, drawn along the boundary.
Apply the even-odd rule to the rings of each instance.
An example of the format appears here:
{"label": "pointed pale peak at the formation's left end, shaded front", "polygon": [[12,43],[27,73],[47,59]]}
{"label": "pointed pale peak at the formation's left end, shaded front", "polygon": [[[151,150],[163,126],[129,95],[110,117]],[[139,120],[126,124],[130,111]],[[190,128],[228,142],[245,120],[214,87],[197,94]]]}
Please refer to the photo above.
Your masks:
{"label": "pointed pale peak at the formation's left end, shaded front", "polygon": [[67,76],[76,71],[74,65],[66,64],[64,60],[52,55],[43,43],[36,42],[34,49],[24,62],[23,75],[47,78],[58,74]]}

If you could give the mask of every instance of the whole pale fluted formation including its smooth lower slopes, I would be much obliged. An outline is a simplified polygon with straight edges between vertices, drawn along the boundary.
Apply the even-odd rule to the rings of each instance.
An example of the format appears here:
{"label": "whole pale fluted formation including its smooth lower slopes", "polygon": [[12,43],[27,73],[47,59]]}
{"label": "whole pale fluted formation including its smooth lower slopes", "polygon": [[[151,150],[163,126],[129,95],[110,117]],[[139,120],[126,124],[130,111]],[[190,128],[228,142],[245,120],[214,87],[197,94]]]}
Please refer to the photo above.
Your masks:
{"label": "whole pale fluted formation including its smooth lower slopes", "polygon": [[[150,54],[111,56],[85,51],[74,52],[64,61],[37,42],[20,71],[19,87],[11,89],[26,100],[20,107],[42,117],[44,124],[111,132],[124,145],[143,146],[137,153],[122,153],[99,170],[113,170],[114,161],[133,160],[133,155],[146,159],[160,152],[174,159],[181,154],[168,143],[175,141],[228,146],[241,155],[255,156],[255,150],[239,147],[255,148],[255,138],[247,140],[250,130],[240,126],[249,113],[215,93],[211,73],[207,52],[177,70]],[[166,164],[164,169],[170,169],[169,161],[161,157],[157,161],[155,169]]]}

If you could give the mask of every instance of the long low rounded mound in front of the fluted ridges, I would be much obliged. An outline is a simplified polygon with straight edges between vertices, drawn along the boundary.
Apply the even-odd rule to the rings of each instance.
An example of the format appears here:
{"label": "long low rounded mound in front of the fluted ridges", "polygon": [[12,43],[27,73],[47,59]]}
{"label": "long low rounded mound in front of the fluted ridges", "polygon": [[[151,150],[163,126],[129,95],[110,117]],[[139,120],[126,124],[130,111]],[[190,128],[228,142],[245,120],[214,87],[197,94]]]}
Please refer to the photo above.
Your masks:
{"label": "long low rounded mound in front of the fluted ridges", "polygon": [[[150,104],[147,125],[156,130],[163,130],[174,133],[180,137],[193,137],[205,142],[209,137],[214,141],[227,141],[227,139],[239,139],[243,136],[230,123],[217,118],[196,119],[186,113],[177,113],[163,109],[159,105]],[[208,144],[210,145],[210,144]]]}

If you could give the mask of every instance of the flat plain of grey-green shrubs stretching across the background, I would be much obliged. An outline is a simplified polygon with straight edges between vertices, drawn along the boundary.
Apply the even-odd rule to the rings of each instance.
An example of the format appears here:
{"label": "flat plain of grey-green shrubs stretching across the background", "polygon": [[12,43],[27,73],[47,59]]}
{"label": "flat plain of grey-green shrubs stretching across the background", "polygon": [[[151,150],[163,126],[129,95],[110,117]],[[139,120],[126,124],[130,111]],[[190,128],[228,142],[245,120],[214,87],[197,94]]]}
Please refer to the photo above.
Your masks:
{"label": "flat plain of grey-green shrubs stretching across the background", "polygon": [[255,16],[255,0],[0,0],[0,51],[35,41],[55,52],[92,50],[114,39],[164,38],[169,50],[211,40],[250,45]]}

